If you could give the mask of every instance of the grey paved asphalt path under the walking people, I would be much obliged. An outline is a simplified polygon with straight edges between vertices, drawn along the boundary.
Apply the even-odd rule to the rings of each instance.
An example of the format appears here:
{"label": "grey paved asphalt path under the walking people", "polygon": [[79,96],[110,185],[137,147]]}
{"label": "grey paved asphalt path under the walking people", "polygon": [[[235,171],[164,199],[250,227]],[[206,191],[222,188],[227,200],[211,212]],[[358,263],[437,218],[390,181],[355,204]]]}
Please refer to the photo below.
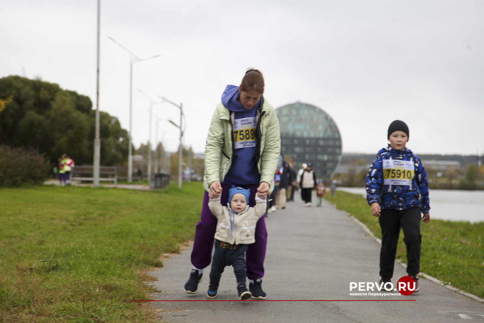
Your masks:
{"label": "grey paved asphalt path under the walking people", "polygon": [[[343,212],[324,202],[305,208],[296,201],[266,218],[269,232],[263,288],[268,300],[401,300],[415,302],[153,302],[159,320],[171,323],[285,322],[484,322],[484,305],[420,279],[410,296],[350,296],[350,282],[378,282],[379,245]],[[208,300],[208,274],[197,294],[183,292],[190,269],[188,248],[150,275],[156,300]],[[393,281],[406,275],[395,264]],[[395,279],[396,278],[396,279]],[[227,267],[217,300],[236,300],[235,277]],[[353,290],[353,292],[357,292]]]}

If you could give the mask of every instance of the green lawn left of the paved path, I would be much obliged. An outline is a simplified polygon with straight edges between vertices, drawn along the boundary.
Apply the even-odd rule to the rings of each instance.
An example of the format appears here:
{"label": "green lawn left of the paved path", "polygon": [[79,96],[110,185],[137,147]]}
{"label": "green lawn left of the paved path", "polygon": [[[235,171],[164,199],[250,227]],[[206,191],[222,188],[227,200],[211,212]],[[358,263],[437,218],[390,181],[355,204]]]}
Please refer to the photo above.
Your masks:
{"label": "green lawn left of the paved path", "polygon": [[201,183],[182,191],[0,189],[0,322],[151,322],[143,282],[200,217]]}

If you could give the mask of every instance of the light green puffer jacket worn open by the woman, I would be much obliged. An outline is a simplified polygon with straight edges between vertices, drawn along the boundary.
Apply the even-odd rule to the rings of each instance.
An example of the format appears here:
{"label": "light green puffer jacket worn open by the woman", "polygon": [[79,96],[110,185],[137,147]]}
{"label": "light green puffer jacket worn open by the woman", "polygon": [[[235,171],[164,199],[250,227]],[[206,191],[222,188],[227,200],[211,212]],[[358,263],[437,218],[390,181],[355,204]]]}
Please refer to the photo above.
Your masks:
{"label": "light green puffer jacket worn open by the woman", "polygon": [[[263,97],[262,97],[263,99]],[[272,105],[263,101],[262,108],[257,109],[256,128],[256,158],[260,181],[274,186],[274,174],[281,154],[281,136],[279,134],[279,120]],[[203,187],[207,192],[214,181],[223,182],[232,164],[233,113],[222,103],[217,105],[210,123],[209,135],[205,145],[205,176]],[[260,131],[259,131],[260,129]],[[260,140],[259,140],[260,139]]]}

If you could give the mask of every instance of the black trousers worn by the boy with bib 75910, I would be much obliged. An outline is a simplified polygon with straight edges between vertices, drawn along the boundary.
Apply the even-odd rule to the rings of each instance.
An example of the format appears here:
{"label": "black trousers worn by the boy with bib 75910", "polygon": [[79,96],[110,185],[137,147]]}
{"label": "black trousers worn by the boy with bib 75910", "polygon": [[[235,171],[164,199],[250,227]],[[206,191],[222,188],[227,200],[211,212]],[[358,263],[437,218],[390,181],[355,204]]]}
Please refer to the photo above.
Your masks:
{"label": "black trousers worn by the boy with bib 75910", "polygon": [[407,273],[420,272],[420,221],[422,210],[412,207],[402,211],[384,209],[378,218],[381,228],[380,276],[392,278],[395,263],[396,245],[403,229],[403,241],[407,246]]}

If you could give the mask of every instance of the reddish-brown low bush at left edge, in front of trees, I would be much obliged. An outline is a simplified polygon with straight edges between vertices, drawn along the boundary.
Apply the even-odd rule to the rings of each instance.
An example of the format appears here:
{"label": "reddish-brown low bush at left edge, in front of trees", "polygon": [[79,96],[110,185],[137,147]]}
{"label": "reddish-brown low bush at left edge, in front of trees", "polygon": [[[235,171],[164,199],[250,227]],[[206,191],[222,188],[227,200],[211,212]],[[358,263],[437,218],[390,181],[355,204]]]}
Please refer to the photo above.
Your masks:
{"label": "reddish-brown low bush at left edge, in front of trees", "polygon": [[0,186],[42,184],[48,170],[48,161],[38,152],[0,145]]}

